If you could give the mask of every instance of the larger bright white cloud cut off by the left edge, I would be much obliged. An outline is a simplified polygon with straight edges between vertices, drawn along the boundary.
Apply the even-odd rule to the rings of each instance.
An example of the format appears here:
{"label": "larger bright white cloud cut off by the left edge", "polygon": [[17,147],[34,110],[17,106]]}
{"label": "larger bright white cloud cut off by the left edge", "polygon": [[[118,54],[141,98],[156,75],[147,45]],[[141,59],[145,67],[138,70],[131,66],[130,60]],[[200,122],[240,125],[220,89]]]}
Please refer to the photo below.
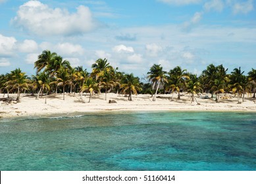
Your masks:
{"label": "larger bright white cloud cut off by the left edge", "polygon": [[0,34],[0,57],[10,57],[15,49],[16,39]]}

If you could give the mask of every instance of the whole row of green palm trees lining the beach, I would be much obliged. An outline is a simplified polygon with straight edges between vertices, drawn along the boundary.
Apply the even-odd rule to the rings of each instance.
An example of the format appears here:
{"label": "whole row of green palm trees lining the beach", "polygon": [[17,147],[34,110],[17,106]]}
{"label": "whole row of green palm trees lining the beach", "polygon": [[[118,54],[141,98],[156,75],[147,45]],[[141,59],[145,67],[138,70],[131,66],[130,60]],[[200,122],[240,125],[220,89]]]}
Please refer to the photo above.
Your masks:
{"label": "whole row of green palm trees lining the beach", "polygon": [[[126,94],[129,101],[132,101],[132,94],[151,94],[153,101],[156,100],[158,93],[178,93],[184,91],[191,94],[191,100],[196,101],[195,94],[211,93],[215,95],[215,101],[219,101],[220,93],[235,93],[239,98],[245,93],[253,92],[255,98],[256,91],[256,70],[251,69],[245,76],[241,68],[234,68],[230,74],[228,69],[222,64],[215,66],[209,64],[200,76],[182,70],[176,66],[166,72],[160,64],[153,64],[147,72],[145,78],[138,78],[134,74],[126,74],[118,71],[109,64],[106,58],[99,58],[91,65],[92,72],[89,73],[83,66],[72,68],[68,60],[57,53],[45,50],[38,56],[34,63],[36,75],[27,76],[20,68],[10,73],[0,75],[0,93],[17,93],[16,101],[20,102],[20,93],[36,93],[36,99],[39,95],[45,95],[45,103],[49,93],[80,93],[80,99],[84,92],[91,95],[95,93],[122,93]],[[143,81],[143,82],[142,82]]]}

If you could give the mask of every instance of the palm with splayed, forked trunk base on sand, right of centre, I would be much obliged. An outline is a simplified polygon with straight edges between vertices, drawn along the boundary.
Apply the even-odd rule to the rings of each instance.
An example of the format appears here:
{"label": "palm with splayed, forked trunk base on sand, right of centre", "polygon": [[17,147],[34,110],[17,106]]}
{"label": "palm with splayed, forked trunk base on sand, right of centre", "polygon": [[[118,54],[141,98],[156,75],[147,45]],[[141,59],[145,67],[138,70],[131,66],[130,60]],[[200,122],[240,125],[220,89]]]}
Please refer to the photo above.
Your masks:
{"label": "palm with splayed, forked trunk base on sand, right of centre", "polygon": [[195,98],[195,94],[200,93],[203,89],[201,88],[201,83],[196,75],[190,74],[190,80],[187,83],[186,91],[191,94],[191,103],[195,100],[196,103],[199,104]]}

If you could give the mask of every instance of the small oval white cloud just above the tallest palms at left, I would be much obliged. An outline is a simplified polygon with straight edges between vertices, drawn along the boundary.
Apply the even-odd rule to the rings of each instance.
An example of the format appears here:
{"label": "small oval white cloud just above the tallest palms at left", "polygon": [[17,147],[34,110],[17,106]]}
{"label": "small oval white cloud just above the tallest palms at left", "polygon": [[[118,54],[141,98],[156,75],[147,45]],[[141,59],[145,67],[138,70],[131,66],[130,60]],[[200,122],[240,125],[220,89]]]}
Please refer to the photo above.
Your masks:
{"label": "small oval white cloud just above the tallest palms at left", "polygon": [[63,56],[83,55],[84,53],[84,49],[81,45],[74,45],[72,43],[59,43],[54,49],[58,55]]}

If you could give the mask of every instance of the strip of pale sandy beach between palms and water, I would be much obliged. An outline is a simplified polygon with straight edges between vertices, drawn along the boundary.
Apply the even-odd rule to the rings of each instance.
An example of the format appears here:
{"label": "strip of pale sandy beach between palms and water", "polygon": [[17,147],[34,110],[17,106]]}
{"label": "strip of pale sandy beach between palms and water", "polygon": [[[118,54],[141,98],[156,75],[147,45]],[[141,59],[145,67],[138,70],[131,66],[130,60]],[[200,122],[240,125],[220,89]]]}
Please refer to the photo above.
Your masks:
{"label": "strip of pale sandy beach between palms and water", "polygon": [[[203,94],[207,95],[207,94]],[[115,93],[107,94],[107,101],[105,101],[105,93],[91,97],[89,95],[82,97],[76,94],[66,94],[63,101],[62,94],[52,94],[47,98],[45,104],[45,97],[40,97],[36,100],[36,96],[30,94],[22,94],[21,103],[5,103],[0,101],[0,117],[11,118],[18,116],[51,116],[54,114],[73,114],[82,112],[107,112],[107,111],[159,111],[159,110],[172,110],[172,111],[244,111],[256,112],[256,102],[251,96],[246,95],[245,101],[238,104],[237,98],[234,95],[229,95],[232,99],[220,99],[220,103],[216,103],[214,99],[200,99],[197,101],[200,104],[190,103],[190,96],[183,95],[180,100],[176,99],[171,101],[172,95],[157,95],[163,99],[157,98],[153,101],[151,95],[133,95],[132,100],[128,101],[124,95]],[[3,94],[0,94],[3,97]],[[16,99],[16,94],[11,94],[10,97]],[[211,97],[209,95],[209,97]],[[109,104],[109,100],[114,100],[116,103]],[[242,101],[242,99],[240,99]]]}

